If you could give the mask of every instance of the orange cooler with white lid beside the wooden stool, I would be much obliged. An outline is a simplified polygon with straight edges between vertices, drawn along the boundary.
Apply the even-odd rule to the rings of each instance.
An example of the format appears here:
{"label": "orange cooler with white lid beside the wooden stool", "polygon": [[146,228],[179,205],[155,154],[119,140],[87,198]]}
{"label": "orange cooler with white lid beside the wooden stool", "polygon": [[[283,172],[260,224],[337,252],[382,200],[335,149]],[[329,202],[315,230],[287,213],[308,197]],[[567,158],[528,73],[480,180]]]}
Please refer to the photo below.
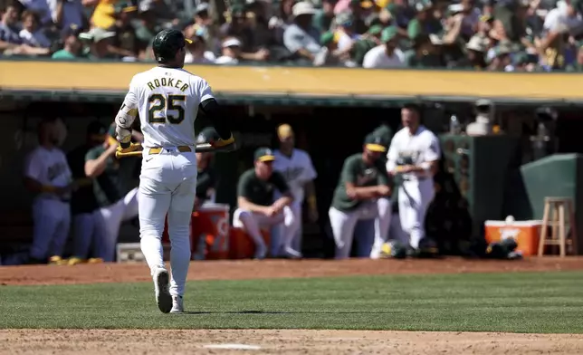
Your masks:
{"label": "orange cooler with white lid beside the wooden stool", "polygon": [[524,256],[538,254],[542,221],[486,221],[486,242],[499,242],[505,238],[516,240],[517,251]]}

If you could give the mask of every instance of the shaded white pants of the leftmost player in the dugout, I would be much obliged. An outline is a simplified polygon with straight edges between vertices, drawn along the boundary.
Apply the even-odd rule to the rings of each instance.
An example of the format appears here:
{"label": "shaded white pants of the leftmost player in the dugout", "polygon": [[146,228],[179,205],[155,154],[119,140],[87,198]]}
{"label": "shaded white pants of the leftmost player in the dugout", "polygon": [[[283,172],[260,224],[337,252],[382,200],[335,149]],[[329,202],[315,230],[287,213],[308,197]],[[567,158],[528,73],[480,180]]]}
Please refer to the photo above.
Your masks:
{"label": "shaded white pants of the leftmost player in the dugout", "polygon": [[35,199],[33,224],[31,257],[44,260],[55,255],[62,256],[71,228],[69,203],[57,199]]}

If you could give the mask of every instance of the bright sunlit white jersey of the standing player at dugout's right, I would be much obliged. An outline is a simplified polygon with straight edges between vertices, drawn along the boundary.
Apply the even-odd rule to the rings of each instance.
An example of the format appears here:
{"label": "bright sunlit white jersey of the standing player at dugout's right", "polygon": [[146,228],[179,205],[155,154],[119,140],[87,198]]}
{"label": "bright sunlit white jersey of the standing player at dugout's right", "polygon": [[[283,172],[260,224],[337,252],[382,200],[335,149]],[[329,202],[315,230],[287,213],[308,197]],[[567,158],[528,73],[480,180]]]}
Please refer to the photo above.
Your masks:
{"label": "bright sunlit white jersey of the standing player at dugout's right", "polygon": [[[408,128],[399,130],[387,153],[387,170],[393,171],[397,166],[397,160],[403,159],[407,164],[420,165],[438,160],[441,156],[439,140],[431,130],[425,126],[419,126],[414,135],[409,133]],[[406,179],[424,178],[424,173],[403,174]]]}

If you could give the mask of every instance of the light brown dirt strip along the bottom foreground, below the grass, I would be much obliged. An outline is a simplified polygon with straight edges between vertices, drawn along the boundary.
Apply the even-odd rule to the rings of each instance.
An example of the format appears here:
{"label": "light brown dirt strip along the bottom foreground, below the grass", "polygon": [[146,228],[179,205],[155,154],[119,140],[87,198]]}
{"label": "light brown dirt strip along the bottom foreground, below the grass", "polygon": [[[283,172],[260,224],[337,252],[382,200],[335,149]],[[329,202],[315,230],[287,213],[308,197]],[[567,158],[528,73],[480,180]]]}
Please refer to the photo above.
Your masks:
{"label": "light brown dirt strip along the bottom foreground, below the grass", "polygon": [[0,353],[576,355],[583,353],[583,336],[426,331],[18,330],[0,331]]}

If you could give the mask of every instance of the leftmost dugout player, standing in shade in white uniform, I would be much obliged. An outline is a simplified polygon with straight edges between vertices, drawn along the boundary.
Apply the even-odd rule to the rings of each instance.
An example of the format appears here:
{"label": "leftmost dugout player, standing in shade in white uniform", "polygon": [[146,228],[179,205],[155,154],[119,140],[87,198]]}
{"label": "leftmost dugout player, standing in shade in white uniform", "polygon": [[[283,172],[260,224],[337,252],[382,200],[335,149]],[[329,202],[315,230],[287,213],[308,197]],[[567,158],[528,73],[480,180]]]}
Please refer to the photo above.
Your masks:
{"label": "leftmost dugout player, standing in shade in white uniform", "polygon": [[43,120],[38,128],[39,146],[26,157],[24,185],[35,194],[31,264],[62,262],[71,227],[72,172],[58,148],[56,120]]}

